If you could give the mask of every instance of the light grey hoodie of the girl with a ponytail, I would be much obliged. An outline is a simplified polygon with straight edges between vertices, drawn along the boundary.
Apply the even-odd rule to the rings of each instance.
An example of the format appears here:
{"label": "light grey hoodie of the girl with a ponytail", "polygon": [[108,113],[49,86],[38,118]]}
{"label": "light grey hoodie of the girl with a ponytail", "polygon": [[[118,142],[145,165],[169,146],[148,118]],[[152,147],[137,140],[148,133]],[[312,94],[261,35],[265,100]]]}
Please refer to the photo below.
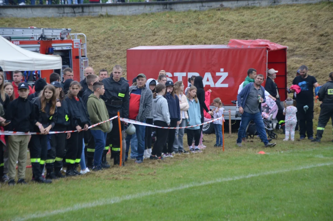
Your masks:
{"label": "light grey hoodie of the girl with a ponytail", "polygon": [[169,107],[166,99],[162,95],[157,95],[156,98],[153,99],[152,114],[154,121],[170,123]]}

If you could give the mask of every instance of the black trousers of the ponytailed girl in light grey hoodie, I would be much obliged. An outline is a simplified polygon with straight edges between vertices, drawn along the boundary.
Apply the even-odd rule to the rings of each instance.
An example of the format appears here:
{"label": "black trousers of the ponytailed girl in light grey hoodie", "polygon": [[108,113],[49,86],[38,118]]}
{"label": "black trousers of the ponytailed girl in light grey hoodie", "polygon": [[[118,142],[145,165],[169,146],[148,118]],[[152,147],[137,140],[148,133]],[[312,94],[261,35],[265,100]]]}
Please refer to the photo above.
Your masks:
{"label": "black trousers of the ponytailed girl in light grey hoodie", "polygon": [[[167,124],[164,121],[154,121],[154,125],[159,127],[167,127]],[[154,148],[152,150],[153,156],[161,157],[162,149],[166,144],[168,134],[169,134],[169,129],[156,128],[157,139],[155,141]]]}

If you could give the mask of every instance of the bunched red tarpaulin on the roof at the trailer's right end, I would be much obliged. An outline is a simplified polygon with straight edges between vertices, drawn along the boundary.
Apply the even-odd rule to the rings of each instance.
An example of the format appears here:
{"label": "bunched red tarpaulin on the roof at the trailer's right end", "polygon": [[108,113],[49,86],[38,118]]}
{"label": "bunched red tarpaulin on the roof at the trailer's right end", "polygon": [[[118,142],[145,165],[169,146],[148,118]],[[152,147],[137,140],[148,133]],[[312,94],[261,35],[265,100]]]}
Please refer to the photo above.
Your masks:
{"label": "bunched red tarpaulin on the roof at the trailer's right end", "polygon": [[269,40],[256,39],[256,40],[237,40],[231,39],[228,47],[230,48],[262,48],[266,47],[268,51],[276,51],[288,48],[287,46],[279,45]]}

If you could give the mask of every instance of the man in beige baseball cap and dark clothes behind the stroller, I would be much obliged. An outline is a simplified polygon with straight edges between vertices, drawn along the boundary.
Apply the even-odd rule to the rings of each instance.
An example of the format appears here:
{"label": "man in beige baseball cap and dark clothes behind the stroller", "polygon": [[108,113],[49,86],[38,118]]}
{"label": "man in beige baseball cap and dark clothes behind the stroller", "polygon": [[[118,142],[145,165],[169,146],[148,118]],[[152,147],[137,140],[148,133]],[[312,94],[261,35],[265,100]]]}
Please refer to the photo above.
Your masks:
{"label": "man in beige baseball cap and dark clothes behind the stroller", "polygon": [[273,97],[276,98],[275,103],[278,107],[278,112],[276,115],[276,119],[279,123],[280,128],[283,130],[284,133],[284,115],[283,115],[283,108],[281,106],[281,101],[280,101],[280,95],[279,95],[279,90],[277,88],[277,85],[274,81],[276,78],[276,73],[279,72],[277,70],[274,70],[273,68],[269,69],[267,71],[267,79],[266,79],[266,84],[265,84],[265,90],[270,93]]}

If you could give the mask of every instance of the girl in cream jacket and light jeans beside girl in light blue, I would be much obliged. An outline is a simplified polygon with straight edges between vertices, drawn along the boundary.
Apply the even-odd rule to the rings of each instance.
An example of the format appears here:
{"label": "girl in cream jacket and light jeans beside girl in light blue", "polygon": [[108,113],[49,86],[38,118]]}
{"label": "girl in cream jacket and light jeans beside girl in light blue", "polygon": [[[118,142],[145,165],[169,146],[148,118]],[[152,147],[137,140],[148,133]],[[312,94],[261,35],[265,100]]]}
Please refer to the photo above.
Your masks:
{"label": "girl in cream jacket and light jeans beside girl in light blue", "polygon": [[[178,96],[179,100],[179,109],[180,109],[180,124],[179,127],[186,126],[186,119],[188,119],[187,110],[189,108],[187,99],[184,91],[184,84],[182,81],[177,81],[174,83],[174,93]],[[175,139],[173,142],[173,149],[174,153],[178,154],[189,154],[187,151],[184,150],[183,147],[183,136],[184,136],[184,128],[175,129]]]}

